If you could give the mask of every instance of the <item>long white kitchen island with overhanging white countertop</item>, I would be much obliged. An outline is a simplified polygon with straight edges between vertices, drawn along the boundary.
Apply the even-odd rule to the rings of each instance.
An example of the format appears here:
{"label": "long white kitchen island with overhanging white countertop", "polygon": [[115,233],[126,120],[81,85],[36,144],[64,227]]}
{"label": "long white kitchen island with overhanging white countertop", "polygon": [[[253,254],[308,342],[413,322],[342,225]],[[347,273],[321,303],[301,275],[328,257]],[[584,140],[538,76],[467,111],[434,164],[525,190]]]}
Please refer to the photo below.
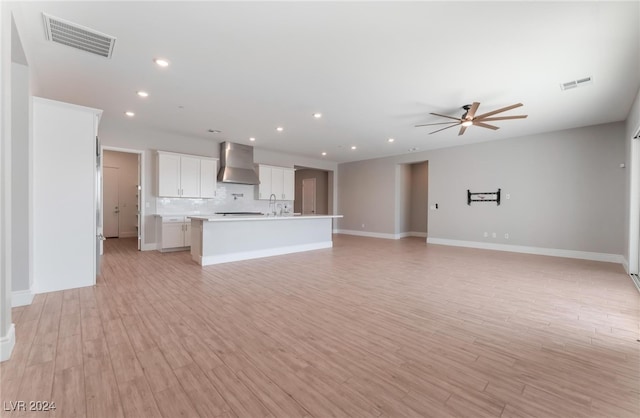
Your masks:
{"label": "long white kitchen island with overhanging white countertop", "polygon": [[191,258],[201,266],[333,246],[342,215],[190,216]]}

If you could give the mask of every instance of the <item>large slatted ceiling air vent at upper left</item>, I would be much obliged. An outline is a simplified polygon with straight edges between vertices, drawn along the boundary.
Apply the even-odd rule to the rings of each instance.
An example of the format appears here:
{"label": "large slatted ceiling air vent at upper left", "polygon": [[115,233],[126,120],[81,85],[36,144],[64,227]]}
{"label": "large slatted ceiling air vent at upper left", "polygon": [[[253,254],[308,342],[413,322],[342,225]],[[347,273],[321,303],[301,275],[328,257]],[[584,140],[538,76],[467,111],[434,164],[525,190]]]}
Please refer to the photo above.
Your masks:
{"label": "large slatted ceiling air vent at upper left", "polygon": [[47,40],[111,58],[116,38],[96,30],[42,14]]}

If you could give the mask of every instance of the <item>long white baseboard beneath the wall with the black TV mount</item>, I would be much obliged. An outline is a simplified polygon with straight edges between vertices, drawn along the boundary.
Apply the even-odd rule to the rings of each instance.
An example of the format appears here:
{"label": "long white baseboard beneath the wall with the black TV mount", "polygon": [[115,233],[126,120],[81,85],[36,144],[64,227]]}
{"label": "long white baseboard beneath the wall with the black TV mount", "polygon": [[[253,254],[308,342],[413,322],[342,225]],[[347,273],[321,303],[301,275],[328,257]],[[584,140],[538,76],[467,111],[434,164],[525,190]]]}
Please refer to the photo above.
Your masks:
{"label": "long white baseboard beneath the wall with the black TV mount", "polygon": [[522,245],[492,244],[477,241],[459,241],[445,238],[427,238],[427,244],[450,245],[454,247],[481,248],[485,250],[508,251],[512,253],[525,253],[537,255],[549,255],[552,257],[579,258],[582,260],[604,261],[607,263],[623,264],[621,254],[594,253],[589,251],[562,250],[557,248],[527,247]]}

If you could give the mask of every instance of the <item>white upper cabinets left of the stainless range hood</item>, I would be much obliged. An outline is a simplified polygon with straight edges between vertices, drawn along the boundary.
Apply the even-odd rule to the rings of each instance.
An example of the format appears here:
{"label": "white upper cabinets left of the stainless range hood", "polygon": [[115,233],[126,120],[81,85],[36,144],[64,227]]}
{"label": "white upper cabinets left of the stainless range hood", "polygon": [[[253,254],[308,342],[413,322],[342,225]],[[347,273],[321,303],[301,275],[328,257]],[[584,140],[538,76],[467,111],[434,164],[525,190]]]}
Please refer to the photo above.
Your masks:
{"label": "white upper cabinets left of the stainless range hood", "polygon": [[158,196],[215,197],[217,163],[215,158],[158,151]]}

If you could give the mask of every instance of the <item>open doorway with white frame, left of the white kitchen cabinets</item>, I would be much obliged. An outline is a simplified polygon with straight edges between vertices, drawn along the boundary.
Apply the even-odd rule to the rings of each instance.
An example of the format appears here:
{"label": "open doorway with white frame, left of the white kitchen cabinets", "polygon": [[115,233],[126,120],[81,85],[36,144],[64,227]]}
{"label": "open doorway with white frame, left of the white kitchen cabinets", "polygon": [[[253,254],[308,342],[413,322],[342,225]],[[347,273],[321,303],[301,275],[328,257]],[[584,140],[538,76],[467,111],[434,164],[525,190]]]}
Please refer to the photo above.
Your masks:
{"label": "open doorway with white frame, left of the white kitchen cabinets", "polygon": [[[102,225],[106,238],[143,243],[143,151],[103,147]],[[131,246],[129,246],[131,247]],[[109,251],[112,246],[105,246]]]}

